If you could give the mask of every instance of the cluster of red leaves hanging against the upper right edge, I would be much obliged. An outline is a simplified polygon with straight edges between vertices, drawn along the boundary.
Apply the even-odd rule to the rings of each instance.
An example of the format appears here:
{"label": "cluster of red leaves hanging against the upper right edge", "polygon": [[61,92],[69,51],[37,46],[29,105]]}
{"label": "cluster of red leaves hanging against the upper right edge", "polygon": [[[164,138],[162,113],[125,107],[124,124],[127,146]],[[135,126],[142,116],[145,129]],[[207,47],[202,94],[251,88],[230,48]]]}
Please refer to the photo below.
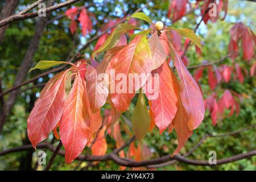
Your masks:
{"label": "cluster of red leaves hanging against the upper right edge", "polygon": [[229,52],[232,53],[230,58],[235,60],[239,55],[238,43],[240,40],[242,42],[241,47],[243,51],[243,58],[245,60],[252,59],[256,46],[256,36],[249,27],[245,26],[241,22],[234,24],[230,29]]}

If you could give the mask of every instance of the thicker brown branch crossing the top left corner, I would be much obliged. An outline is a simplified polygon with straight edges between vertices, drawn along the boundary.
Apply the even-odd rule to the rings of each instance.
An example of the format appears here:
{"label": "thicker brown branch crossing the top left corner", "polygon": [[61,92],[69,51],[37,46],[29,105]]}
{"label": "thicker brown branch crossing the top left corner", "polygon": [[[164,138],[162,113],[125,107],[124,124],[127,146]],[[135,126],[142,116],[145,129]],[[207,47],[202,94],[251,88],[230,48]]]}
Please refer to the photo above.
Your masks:
{"label": "thicker brown branch crossing the top left corner", "polygon": [[[44,9],[46,11],[46,13],[49,13],[51,11],[57,10],[57,9],[61,9],[62,7],[71,5],[75,2],[78,2],[80,0],[69,0],[69,1],[65,1],[63,3],[59,3],[57,5],[53,5],[50,7],[47,7],[46,9]],[[44,11],[42,10],[42,11]],[[21,20],[21,19],[28,19],[28,18],[34,18],[36,16],[38,16],[38,11],[34,12],[34,13],[28,13],[28,14],[15,14],[15,15],[11,15],[3,20],[0,21],[0,27],[5,26],[6,24],[9,24],[11,22],[14,22],[16,20]]]}

